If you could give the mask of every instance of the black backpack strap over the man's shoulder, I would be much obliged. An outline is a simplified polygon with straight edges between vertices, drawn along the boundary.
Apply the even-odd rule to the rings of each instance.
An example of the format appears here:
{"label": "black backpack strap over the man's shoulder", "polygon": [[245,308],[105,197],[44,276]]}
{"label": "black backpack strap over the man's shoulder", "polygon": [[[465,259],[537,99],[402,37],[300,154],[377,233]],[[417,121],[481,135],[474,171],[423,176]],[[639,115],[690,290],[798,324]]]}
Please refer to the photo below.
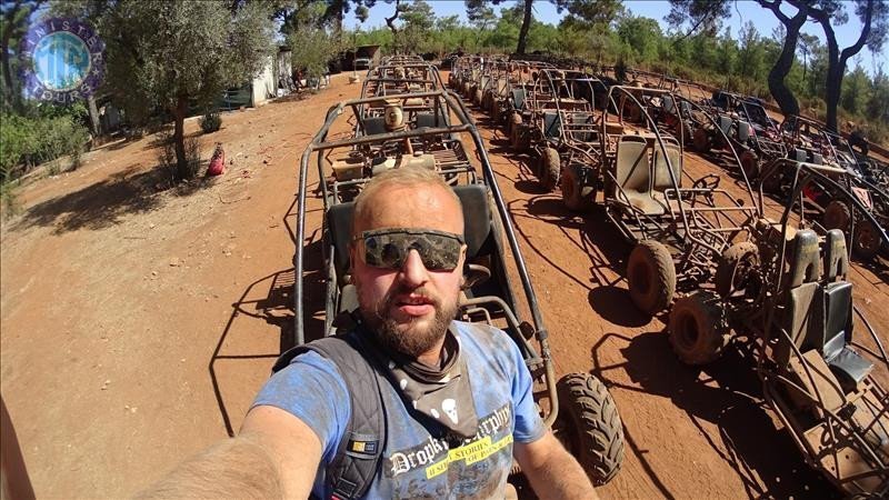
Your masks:
{"label": "black backpack strap over the man's shoulder", "polygon": [[333,492],[331,500],[361,498],[373,482],[386,442],[386,414],[379,374],[361,354],[366,349],[353,333],[297,346],[278,358],[272,373],[287,368],[293,358],[309,351],[318,352],[337,366],[351,399],[351,418],[333,461],[326,468],[326,480]]}

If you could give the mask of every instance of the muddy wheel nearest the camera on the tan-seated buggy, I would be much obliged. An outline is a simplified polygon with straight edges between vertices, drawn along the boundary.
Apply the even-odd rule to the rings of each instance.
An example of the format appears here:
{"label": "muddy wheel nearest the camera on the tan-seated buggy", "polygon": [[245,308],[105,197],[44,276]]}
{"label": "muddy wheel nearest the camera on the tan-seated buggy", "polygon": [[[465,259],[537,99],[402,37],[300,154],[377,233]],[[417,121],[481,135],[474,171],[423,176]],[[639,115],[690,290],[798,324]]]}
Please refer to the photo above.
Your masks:
{"label": "muddy wheel nearest the camera on the tan-seated buggy", "polygon": [[647,314],[666,309],[676,293],[676,267],[670,251],[659,241],[643,240],[627,262],[630,298]]}

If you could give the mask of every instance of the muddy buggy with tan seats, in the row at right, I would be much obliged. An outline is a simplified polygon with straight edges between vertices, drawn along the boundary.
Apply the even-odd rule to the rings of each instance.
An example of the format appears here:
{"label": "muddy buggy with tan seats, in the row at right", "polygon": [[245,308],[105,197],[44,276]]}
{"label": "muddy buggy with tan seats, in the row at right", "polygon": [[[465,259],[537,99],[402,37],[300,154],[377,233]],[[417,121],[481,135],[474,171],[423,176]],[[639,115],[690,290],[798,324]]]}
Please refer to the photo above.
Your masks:
{"label": "muddy buggy with tan seats, in the row at right", "polygon": [[[648,314],[667,309],[678,291],[708,281],[716,260],[732,242],[746,240],[747,222],[761,214],[746,180],[748,200],[741,200],[719,188],[718,176],[693,179],[685,170],[681,141],[651,117],[667,98],[681,99],[669,90],[612,86],[598,121],[600,159],[563,164],[560,181],[562,200],[572,209],[599,202],[601,192],[606,217],[633,244],[627,263],[630,298]],[[629,106],[641,112],[641,123],[625,121]]]}

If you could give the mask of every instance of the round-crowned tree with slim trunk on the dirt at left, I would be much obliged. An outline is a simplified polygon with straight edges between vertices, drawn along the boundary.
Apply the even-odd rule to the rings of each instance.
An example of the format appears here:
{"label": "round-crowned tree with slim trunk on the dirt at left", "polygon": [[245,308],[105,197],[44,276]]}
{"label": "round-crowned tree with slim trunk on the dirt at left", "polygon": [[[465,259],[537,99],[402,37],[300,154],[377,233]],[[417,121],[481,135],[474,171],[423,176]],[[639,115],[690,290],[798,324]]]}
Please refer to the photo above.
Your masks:
{"label": "round-crowned tree with slim trunk on the dirt at left", "polygon": [[141,0],[113,4],[100,23],[107,84],[130,116],[151,107],[174,120],[178,177],[188,178],[184,119],[189,101],[209,106],[228,87],[250,80],[272,53],[274,26],[267,4]]}

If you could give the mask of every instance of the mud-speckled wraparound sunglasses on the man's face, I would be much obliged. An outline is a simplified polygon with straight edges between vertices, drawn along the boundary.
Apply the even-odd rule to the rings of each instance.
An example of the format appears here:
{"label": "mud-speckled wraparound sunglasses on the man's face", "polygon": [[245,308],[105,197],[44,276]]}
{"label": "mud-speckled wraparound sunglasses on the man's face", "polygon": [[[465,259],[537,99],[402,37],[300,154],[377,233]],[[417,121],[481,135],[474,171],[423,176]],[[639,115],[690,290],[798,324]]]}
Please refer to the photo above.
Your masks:
{"label": "mud-speckled wraparound sunglasses on the man's face", "polygon": [[376,229],[352,238],[364,243],[364,263],[380,269],[401,269],[411,250],[417,250],[426,269],[453,271],[460,263],[463,237],[434,229]]}

